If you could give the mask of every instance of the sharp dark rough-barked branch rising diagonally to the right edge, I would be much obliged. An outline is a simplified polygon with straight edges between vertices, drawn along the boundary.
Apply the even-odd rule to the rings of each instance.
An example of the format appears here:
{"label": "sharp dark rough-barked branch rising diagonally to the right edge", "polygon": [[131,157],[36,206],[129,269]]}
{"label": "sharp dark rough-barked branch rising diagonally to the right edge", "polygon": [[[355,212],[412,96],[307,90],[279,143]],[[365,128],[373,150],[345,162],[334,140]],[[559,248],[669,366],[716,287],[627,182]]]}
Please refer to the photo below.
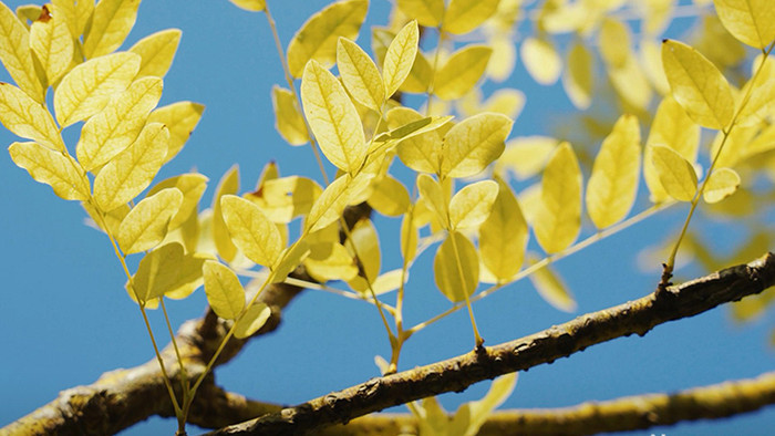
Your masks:
{"label": "sharp dark rough-barked branch rising diagonally to the right edge", "polygon": [[551,363],[587,346],[737,301],[775,284],[775,255],[669,287],[639,300],[579,316],[542,332],[330,393],[209,435],[300,434],[410,401],[459,392],[483,380]]}

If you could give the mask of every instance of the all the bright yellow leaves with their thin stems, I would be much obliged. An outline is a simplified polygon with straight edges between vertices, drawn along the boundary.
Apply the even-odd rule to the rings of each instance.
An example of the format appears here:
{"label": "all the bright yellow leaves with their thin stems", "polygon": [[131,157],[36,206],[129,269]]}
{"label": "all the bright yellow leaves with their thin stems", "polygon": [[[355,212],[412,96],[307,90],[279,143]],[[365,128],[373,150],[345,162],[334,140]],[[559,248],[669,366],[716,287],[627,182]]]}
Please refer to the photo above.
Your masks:
{"label": "all the bright yellow leaves with their thin stems", "polygon": [[[232,2],[266,12],[273,28],[265,1]],[[16,14],[1,4],[0,60],[18,86],[0,83],[0,121],[33,141],[9,147],[13,162],[58,196],[81,201],[108,236],[126,272],[127,291],[144,316],[146,309],[164,309],[165,298],[185,298],[204,284],[213,310],[234,321],[226,340],[247,338],[269,316],[269,309],[256,303],[260,292],[269,283],[293,280],[288,274],[303,266],[317,282],[347,283],[350,289],[342,293],[376,307],[392,349],[383,371],[394,372],[412,334],[461,308],[468,309],[475,344],[482,346],[471,302],[524,277],[549,302],[572,310],[572,297],[548,268],[552,260],[674,201],[691,204],[685,232],[701,199],[719,203],[745,184],[740,169],[751,167],[743,164],[764,155],[772,160],[772,6],[765,0],[715,2],[724,28],[762,51],[751,79],[736,90],[714,62],[678,41],[665,40],[661,51],[642,41],[647,63],[663,69],[639,66],[628,27],[611,18],[623,3],[547,1],[535,10],[536,37],[520,46],[530,74],[550,84],[562,68],[549,35],[574,32],[564,85],[571,102],[586,108],[592,103],[595,56],[585,41],[599,41],[610,82],[630,113],[607,132],[586,195],[569,142],[524,137],[507,144],[524,104],[518,90],[500,90],[482,102],[483,81],[503,80],[514,66],[512,40],[521,11],[516,0],[397,0],[391,25],[373,30],[373,56],[355,42],[368,0],[341,0],[312,15],[290,41],[287,55],[280,53],[288,87],[276,86],[272,101],[281,136],[293,146],[310,143],[337,168],[329,183],[321,162],[326,186],[310,177],[281,177],[269,164],[256,189],[241,196],[238,170],[230,169],[207,210],[198,208],[208,181],[200,174],[162,180],[146,191],[182,149],[204,107],[180,102],[156,108],[179,31],[154,33],[116,52],[140,1],[101,0],[95,6],[54,0],[21,7]],[[645,3],[645,34],[653,39],[673,3]],[[421,27],[437,37],[432,55],[421,49]],[[472,33],[484,34],[487,43],[461,45],[459,37]],[[333,65],[339,76],[330,71]],[[53,111],[46,102],[50,86]],[[664,97],[643,149],[639,116],[648,113],[652,86]],[[424,108],[403,104],[404,94],[425,95]],[[459,118],[450,115],[454,111]],[[62,131],[79,122],[83,125],[72,154]],[[702,183],[696,162],[701,127],[717,131]],[[412,170],[414,179],[402,181],[393,164]],[[624,221],[641,167],[654,206]],[[512,174],[519,179],[540,176],[540,181],[517,196]],[[362,203],[402,220],[400,269],[382,272],[378,229],[370,219],[352,228],[344,224],[345,207]],[[596,231],[578,242],[585,205]],[[289,226],[298,218],[298,237],[290,241]],[[546,255],[542,260],[526,256],[530,228]],[[684,232],[674,241],[671,271]],[[407,329],[402,307],[409,272],[435,243],[435,282],[453,308]],[[131,255],[143,256],[134,273],[126,263]],[[526,258],[531,266],[523,269]],[[246,292],[239,276],[256,276],[255,266],[264,269],[261,284]],[[482,283],[493,284],[482,290]],[[380,300],[393,290],[394,304]],[[183,377],[182,405],[168,385],[179,422],[185,423],[200,382]],[[510,390],[496,391],[469,406],[479,412],[466,421],[463,433],[475,432],[486,411]],[[432,402],[412,406],[428,428],[437,422],[437,408]]]}

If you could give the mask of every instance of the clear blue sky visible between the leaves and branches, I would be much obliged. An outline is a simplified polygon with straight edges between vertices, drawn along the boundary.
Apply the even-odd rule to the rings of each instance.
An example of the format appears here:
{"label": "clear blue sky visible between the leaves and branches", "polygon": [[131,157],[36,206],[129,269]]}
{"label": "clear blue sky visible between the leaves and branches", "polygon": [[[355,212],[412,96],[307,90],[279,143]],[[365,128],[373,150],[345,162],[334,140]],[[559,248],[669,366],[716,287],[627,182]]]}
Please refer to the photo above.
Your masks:
{"label": "clear blue sky visible between the leaves and branches", "polygon": [[[11,8],[20,3],[7,1]],[[269,1],[283,44],[326,3]],[[366,25],[384,23],[389,9],[386,0],[373,0]],[[283,77],[262,14],[245,12],[226,0],[147,0],[141,4],[137,24],[124,46],[167,28],[182,29],[183,40],[165,77],[161,104],[190,100],[207,108],[187,146],[163,168],[159,179],[196,168],[210,178],[204,197],[209,205],[218,178],[235,163],[240,166],[242,191],[255,185],[270,159],[278,162],[285,175],[319,178],[309,148],[289,147],[275,132],[269,95],[272,84],[283,83]],[[368,37],[368,32],[363,34]],[[366,39],[359,42],[369,48]],[[0,80],[8,81],[4,71]],[[551,115],[571,111],[559,86],[536,85],[520,65],[507,84],[527,96],[513,136],[549,134]],[[65,139],[69,145],[75,143],[74,134],[70,132]],[[13,141],[12,134],[0,129],[3,147]],[[64,388],[92,383],[105,371],[141,364],[153,352],[138,311],[123,290],[125,278],[108,241],[84,226],[82,208],[34,183],[8,155],[0,157],[0,425],[4,425],[50,402]],[[647,207],[643,197],[636,210]],[[674,207],[560,261],[557,268],[578,301],[576,313],[551,308],[527,281],[476,303],[477,322],[487,344],[650,292],[658,273],[641,271],[637,255],[675,235],[685,214],[685,207]],[[391,241],[397,235],[397,221],[380,217],[376,225],[384,258],[390,259],[383,269],[396,268],[399,251]],[[727,233],[724,227],[716,228],[722,229],[722,239],[738,236],[738,230]],[[590,227],[583,231],[589,235]],[[407,290],[405,318],[411,323],[448,307],[433,284],[431,251],[416,263]],[[680,272],[689,277],[703,271],[690,268]],[[205,304],[202,290],[172,303],[173,323],[199,316]],[[158,314],[153,315],[155,331],[163,332]],[[661,325],[645,338],[619,339],[520,374],[505,407],[558,407],[754,377],[773,368],[773,350],[767,347],[772,325],[772,311],[753,324],[738,326],[726,309]],[[400,366],[411,368],[465,353],[472,342],[467,314],[459,311],[413,336]],[[374,355],[389,353],[374,308],[309,291],[293,301],[277,333],[254,341],[216,374],[226,388],[293,404],[378,375]],[[454,409],[462,401],[480,397],[486,387],[484,383],[464,394],[444,395],[442,403]],[[724,422],[633,434],[765,434],[773,426],[775,409],[771,407]],[[174,428],[173,422],[153,418],[124,434],[170,434]]]}

